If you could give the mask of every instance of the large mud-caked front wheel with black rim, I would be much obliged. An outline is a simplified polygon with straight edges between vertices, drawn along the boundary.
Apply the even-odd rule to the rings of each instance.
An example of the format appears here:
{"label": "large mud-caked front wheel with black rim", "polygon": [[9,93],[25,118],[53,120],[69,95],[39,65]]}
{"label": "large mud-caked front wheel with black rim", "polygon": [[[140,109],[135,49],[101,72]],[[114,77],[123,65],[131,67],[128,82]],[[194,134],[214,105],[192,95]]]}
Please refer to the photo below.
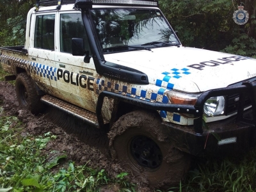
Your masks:
{"label": "large mud-caked front wheel with black rim", "polygon": [[113,159],[156,188],[179,183],[188,172],[190,157],[175,148],[156,113],[134,111],[115,122],[109,136]]}

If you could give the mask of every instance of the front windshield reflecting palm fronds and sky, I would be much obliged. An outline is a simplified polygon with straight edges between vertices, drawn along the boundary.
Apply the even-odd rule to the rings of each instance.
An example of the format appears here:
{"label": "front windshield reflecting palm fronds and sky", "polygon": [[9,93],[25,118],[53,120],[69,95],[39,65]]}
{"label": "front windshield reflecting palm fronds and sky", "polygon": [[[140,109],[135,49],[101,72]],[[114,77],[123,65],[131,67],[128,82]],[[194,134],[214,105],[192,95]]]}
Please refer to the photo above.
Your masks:
{"label": "front windshield reflecting palm fronds and sky", "polygon": [[104,52],[180,44],[159,10],[97,9],[92,15]]}

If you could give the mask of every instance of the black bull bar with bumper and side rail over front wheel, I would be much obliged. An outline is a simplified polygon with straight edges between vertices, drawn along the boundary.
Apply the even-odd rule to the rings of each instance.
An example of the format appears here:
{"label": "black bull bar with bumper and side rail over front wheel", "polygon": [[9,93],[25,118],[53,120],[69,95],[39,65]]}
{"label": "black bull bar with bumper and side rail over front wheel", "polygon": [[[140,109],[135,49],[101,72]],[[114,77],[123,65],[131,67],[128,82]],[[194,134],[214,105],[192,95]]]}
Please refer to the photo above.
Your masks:
{"label": "black bull bar with bumper and side rail over front wheel", "polygon": [[[204,104],[211,97],[237,95],[236,115],[225,120],[203,125]],[[202,93],[193,105],[161,104],[144,102],[138,99],[125,97],[116,93],[101,92],[97,104],[97,118],[100,126],[103,125],[101,108],[104,97],[122,100],[140,108],[150,110],[164,110],[175,113],[193,114],[194,124],[191,126],[177,125],[163,122],[168,129],[169,137],[177,148],[195,156],[220,156],[221,154],[237,153],[255,146],[256,136],[256,81],[246,81],[236,86],[228,86]],[[244,111],[245,108],[250,109]],[[228,111],[228,110],[227,110]],[[229,111],[230,112],[230,111]],[[228,115],[225,112],[224,115]]]}

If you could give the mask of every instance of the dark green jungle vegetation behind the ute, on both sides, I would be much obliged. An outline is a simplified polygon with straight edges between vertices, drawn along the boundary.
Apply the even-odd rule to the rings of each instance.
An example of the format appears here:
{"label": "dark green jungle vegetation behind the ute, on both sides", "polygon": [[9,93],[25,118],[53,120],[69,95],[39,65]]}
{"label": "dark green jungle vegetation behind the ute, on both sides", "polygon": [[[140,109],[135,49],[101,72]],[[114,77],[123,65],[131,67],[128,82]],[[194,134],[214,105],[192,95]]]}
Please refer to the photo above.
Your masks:
{"label": "dark green jungle vegetation behind the ute, on both sides", "polygon": [[[0,46],[25,42],[26,15],[36,0],[0,0]],[[232,19],[244,6],[249,20]],[[256,0],[159,0],[159,6],[177,31],[182,45],[255,57]]]}

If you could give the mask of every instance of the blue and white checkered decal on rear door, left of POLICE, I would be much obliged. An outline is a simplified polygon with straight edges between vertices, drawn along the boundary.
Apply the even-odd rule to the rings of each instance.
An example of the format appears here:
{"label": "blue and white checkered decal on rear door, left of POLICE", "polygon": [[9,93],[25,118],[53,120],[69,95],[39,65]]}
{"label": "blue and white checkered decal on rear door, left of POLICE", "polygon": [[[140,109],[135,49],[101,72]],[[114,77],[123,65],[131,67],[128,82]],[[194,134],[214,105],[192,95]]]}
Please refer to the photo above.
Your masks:
{"label": "blue and white checkered decal on rear door, left of POLICE", "polygon": [[42,65],[35,62],[30,62],[31,72],[36,72],[37,75],[40,75],[41,77],[47,77],[48,79],[57,81],[56,77],[56,71],[57,68],[50,67],[48,65]]}

